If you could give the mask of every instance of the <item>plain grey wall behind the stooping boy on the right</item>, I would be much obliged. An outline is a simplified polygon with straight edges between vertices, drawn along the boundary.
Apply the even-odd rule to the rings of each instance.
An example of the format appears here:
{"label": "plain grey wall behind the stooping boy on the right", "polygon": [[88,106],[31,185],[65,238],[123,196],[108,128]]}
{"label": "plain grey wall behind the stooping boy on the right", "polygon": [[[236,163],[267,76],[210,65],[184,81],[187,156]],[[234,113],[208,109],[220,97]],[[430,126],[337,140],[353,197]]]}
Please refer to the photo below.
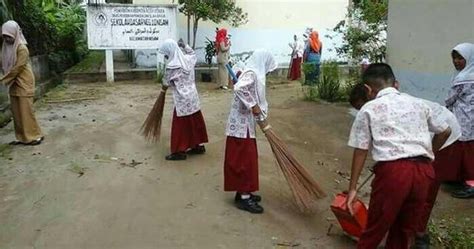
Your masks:
{"label": "plain grey wall behind the stooping boy on the right", "polygon": [[454,67],[451,50],[474,42],[474,0],[390,0],[388,62],[402,90],[442,103]]}

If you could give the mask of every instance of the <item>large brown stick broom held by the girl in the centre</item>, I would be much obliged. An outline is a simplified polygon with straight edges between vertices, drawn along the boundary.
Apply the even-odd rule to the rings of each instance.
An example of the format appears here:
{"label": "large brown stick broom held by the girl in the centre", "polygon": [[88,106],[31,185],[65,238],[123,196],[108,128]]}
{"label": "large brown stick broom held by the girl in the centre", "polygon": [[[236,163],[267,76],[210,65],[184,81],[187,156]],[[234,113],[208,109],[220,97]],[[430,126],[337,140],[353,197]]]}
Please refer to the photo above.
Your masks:
{"label": "large brown stick broom held by the girl in the centre", "polygon": [[319,184],[293,156],[286,144],[265,123],[259,123],[267,137],[273,154],[290,186],[296,205],[303,213],[315,211],[317,200],[326,196]]}

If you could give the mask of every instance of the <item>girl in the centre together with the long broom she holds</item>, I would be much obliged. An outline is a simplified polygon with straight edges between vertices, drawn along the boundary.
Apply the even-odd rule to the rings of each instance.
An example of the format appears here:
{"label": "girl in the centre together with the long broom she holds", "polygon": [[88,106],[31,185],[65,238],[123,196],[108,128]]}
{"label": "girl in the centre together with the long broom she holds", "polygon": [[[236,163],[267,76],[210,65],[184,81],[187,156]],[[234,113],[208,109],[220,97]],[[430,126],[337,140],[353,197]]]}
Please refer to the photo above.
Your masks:
{"label": "girl in the centre together with the long broom she holds", "polygon": [[224,190],[236,192],[237,208],[262,213],[259,188],[256,125],[267,137],[273,154],[302,212],[314,211],[314,203],[325,196],[308,171],[292,155],[267,122],[266,75],[277,64],[270,52],[256,50],[234,85],[234,99],[227,122],[224,162]]}

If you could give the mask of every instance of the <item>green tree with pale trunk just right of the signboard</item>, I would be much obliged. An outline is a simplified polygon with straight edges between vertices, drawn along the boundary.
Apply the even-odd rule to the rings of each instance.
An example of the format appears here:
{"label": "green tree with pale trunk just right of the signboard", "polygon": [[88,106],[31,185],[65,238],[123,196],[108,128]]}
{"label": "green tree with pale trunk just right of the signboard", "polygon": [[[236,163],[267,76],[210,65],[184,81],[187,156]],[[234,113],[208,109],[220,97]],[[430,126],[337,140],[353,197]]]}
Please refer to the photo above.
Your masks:
{"label": "green tree with pale trunk just right of the signboard", "polygon": [[191,22],[193,29],[193,48],[196,46],[196,34],[200,21],[210,20],[216,24],[229,22],[233,27],[247,23],[247,13],[233,0],[179,0],[179,11],[188,21],[188,43],[191,43]]}

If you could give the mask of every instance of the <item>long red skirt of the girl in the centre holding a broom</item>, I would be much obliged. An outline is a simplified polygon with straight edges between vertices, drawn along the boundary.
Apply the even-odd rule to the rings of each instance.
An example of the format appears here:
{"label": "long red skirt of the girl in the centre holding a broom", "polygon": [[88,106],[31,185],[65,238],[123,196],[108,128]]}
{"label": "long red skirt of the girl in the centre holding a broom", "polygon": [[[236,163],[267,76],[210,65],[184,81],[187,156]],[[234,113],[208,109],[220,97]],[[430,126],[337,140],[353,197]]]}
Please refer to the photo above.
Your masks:
{"label": "long red skirt of the girl in the centre holding a broom", "polygon": [[224,191],[258,191],[258,152],[255,138],[227,137]]}

